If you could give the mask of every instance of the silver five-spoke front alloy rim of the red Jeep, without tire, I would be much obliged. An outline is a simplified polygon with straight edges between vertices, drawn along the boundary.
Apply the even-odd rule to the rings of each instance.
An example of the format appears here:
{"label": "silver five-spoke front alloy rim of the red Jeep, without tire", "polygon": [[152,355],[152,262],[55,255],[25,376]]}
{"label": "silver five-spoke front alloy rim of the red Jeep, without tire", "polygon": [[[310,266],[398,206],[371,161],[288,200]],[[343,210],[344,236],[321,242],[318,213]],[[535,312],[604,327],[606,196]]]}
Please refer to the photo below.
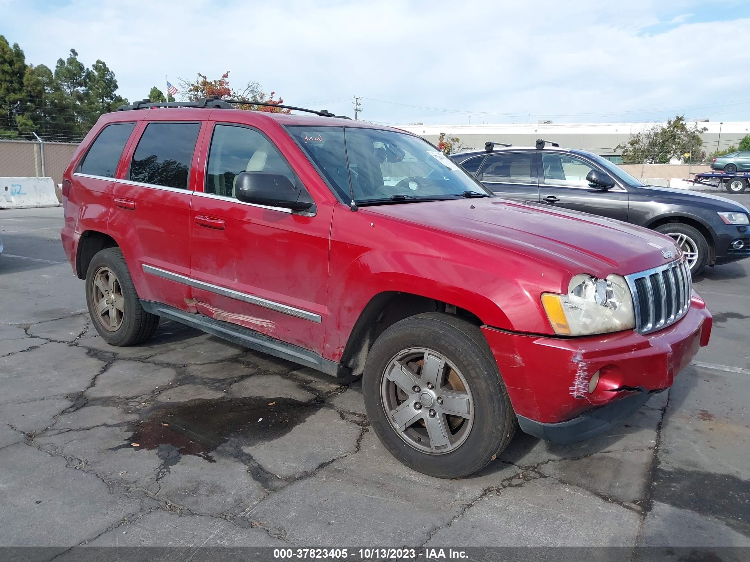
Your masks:
{"label": "silver five-spoke front alloy rim of the red Jeep, without tire", "polygon": [[437,351],[409,348],[393,357],[383,372],[381,397],[392,428],[422,453],[451,453],[469,436],[474,420],[469,385]]}

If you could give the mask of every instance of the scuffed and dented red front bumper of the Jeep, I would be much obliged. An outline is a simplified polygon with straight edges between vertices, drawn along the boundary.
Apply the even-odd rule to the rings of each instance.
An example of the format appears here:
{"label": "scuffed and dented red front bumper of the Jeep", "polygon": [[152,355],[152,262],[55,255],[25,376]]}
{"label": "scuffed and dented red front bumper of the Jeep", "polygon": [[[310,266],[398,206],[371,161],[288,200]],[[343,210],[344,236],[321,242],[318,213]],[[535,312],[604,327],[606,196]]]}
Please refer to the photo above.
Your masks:
{"label": "scuffed and dented red front bumper of the Jeep", "polygon": [[[670,387],[673,378],[688,366],[698,348],[708,344],[711,326],[710,312],[703,300],[693,293],[690,309],[682,319],[646,335],[626,330],[560,338],[487,326],[482,327],[482,331],[522,429],[524,420],[541,424],[565,423],[575,434],[576,424],[571,420],[581,417],[577,429],[579,437],[586,438],[613,423],[590,432],[590,418],[622,419],[640,408],[650,393]],[[596,372],[599,381],[589,393],[589,381]],[[616,406],[619,401],[623,404]],[[598,413],[597,408],[601,410]],[[623,414],[625,411],[627,413]],[[531,427],[529,423],[526,426]],[[536,435],[534,431],[529,432]],[[577,441],[574,437],[567,435],[565,442]],[[551,438],[551,435],[544,435],[544,438]]]}

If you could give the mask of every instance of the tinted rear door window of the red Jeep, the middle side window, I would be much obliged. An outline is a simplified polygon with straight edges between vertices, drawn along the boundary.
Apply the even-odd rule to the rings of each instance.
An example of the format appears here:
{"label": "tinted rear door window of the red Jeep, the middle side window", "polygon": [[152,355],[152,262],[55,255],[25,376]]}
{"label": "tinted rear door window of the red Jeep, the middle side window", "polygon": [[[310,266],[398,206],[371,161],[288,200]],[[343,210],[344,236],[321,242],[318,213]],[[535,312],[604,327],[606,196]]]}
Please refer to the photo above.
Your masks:
{"label": "tinted rear door window of the red Jeep, the middle side window", "polygon": [[199,123],[149,123],[130,163],[130,179],[187,189]]}

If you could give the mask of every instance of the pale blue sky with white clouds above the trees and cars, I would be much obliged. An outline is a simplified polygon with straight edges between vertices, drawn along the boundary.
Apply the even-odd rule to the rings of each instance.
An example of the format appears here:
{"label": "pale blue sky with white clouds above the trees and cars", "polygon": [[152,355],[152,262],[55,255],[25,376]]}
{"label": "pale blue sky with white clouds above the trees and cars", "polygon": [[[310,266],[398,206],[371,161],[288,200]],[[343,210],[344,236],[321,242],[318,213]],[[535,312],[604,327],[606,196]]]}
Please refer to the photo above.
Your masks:
{"label": "pale blue sky with white clouds above the trees and cars", "polygon": [[[750,120],[747,0],[0,0],[0,34],[54,67],[104,60],[120,94],[164,75],[255,80],[389,124]],[[179,97],[179,94],[178,94]]]}

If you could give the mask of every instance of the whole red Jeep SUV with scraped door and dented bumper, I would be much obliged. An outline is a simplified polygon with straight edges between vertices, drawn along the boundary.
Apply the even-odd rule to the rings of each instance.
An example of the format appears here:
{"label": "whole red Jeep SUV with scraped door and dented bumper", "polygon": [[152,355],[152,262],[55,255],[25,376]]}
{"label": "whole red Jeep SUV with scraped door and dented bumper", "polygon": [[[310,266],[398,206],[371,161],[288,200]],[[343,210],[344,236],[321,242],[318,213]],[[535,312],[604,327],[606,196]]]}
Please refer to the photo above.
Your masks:
{"label": "whole red Jeep SUV with scraped door and dented bumper", "polygon": [[517,424],[595,435],[708,343],[670,238],[500,199],[418,136],[214,99],[120,109],[63,183],[101,336],[169,318],[362,375],[380,440],[425,474],[478,471]]}

